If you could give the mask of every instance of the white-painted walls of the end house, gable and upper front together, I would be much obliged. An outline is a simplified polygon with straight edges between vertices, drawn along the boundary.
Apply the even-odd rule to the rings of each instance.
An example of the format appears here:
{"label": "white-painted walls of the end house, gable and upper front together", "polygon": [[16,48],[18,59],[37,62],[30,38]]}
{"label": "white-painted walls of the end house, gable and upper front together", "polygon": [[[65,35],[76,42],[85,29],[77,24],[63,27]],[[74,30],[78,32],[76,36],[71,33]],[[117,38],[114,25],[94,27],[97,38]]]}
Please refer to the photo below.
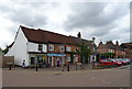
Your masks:
{"label": "white-painted walls of the end house, gable and upper front together", "polygon": [[[14,56],[14,64],[15,65],[22,65],[22,62],[25,60],[25,66],[30,65],[30,56],[29,52],[40,52],[38,51],[38,44],[37,43],[31,43],[26,40],[23,31],[21,27],[18,31],[18,35],[14,40],[14,44],[9,49],[8,54],[6,56]],[[43,44],[43,52],[47,52],[47,45]]]}

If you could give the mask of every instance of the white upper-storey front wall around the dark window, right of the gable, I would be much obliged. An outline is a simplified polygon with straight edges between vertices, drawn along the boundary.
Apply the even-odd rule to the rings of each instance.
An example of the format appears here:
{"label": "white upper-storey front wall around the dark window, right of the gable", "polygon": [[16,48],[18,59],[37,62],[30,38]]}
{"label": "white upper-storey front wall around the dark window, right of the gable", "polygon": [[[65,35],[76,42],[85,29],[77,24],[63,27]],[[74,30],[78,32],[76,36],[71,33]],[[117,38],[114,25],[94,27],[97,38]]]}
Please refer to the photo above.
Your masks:
{"label": "white upper-storey front wall around the dark window, right of the gable", "polygon": [[[28,43],[28,51],[29,52],[41,52],[41,51],[38,51],[38,44],[37,43],[31,43],[31,42]],[[42,51],[44,53],[47,52],[47,45],[46,44],[43,44],[43,49]]]}

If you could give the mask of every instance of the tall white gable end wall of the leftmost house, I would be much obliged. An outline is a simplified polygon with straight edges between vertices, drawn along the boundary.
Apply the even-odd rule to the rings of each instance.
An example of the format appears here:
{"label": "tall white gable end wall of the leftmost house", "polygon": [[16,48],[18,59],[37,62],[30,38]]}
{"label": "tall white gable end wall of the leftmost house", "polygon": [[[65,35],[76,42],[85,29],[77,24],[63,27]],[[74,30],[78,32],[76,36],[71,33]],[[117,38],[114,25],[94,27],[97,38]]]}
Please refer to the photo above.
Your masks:
{"label": "tall white gable end wall of the leftmost house", "polygon": [[20,66],[22,65],[22,62],[24,59],[25,66],[29,66],[29,54],[26,44],[28,40],[20,27],[16,38],[14,40],[14,44],[6,56],[14,56],[14,64]]}

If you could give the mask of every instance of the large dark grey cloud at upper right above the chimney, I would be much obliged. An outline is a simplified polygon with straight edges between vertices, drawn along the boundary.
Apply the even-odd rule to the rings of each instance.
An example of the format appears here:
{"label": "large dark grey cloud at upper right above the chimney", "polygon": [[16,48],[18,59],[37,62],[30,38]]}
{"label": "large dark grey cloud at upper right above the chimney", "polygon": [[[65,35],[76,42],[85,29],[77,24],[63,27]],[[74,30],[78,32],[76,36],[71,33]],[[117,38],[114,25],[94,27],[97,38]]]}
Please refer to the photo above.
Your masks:
{"label": "large dark grey cloud at upper right above the chimney", "polygon": [[[127,14],[124,3],[85,2],[74,3],[66,27],[106,26]],[[121,9],[122,8],[122,9]]]}

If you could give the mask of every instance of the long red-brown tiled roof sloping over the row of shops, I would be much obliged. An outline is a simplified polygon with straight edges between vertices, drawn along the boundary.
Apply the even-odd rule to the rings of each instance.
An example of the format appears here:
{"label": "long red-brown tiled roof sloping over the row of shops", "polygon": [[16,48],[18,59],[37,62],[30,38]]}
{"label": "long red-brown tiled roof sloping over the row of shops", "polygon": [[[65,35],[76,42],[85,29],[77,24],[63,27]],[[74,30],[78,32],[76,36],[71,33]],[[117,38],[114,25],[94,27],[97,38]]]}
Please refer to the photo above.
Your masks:
{"label": "long red-brown tiled roof sloping over the row of shops", "polygon": [[21,26],[23,33],[25,34],[29,42],[35,43],[59,43],[59,44],[80,44],[80,42],[91,43],[87,40],[80,40],[75,36],[66,36],[58,33],[45,31],[45,30],[35,30],[35,29],[28,29],[25,26]]}

